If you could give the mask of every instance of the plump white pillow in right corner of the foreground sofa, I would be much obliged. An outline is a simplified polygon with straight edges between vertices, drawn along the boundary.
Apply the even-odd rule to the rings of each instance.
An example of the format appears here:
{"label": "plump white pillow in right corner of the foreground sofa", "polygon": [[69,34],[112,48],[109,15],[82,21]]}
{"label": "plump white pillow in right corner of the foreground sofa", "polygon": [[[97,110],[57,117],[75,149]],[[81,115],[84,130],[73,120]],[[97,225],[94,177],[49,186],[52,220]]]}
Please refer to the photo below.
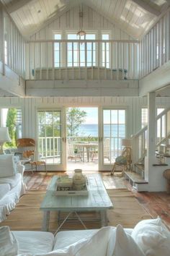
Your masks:
{"label": "plump white pillow in right corner of the foreground sofa", "polygon": [[132,237],[146,256],[170,255],[170,232],[159,217],[140,221]]}

